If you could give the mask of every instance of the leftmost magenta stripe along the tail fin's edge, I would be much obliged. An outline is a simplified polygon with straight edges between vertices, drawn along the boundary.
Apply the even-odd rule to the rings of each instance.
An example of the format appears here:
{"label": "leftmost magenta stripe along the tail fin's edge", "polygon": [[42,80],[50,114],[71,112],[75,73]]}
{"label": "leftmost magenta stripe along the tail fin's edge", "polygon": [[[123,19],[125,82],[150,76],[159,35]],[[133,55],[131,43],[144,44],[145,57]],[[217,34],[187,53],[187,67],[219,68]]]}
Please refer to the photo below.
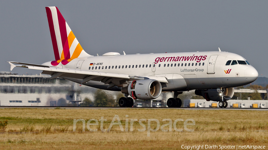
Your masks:
{"label": "leftmost magenta stripe along the tail fin's edge", "polygon": [[59,54],[59,50],[58,50],[57,39],[56,39],[56,35],[55,35],[55,30],[54,30],[54,24],[53,24],[53,20],[52,20],[52,13],[51,13],[51,10],[49,9],[49,7],[46,7],[46,15],[47,15],[48,23],[49,23],[49,30],[50,30],[55,60],[59,60],[60,54]]}

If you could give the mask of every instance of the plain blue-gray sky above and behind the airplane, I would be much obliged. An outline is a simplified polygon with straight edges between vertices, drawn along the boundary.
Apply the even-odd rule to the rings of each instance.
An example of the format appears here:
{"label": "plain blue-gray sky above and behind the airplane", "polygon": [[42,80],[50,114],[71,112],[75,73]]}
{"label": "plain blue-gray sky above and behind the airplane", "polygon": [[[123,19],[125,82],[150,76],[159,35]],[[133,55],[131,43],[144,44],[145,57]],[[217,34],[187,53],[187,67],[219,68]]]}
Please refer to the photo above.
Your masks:
{"label": "plain blue-gray sky above and behind the airplane", "polygon": [[[6,61],[54,60],[46,6],[57,6],[91,54],[222,51],[268,77],[268,1],[1,1],[0,71]],[[120,60],[127,61],[127,60]],[[13,73],[39,74],[26,68]],[[263,75],[261,75],[263,74]]]}

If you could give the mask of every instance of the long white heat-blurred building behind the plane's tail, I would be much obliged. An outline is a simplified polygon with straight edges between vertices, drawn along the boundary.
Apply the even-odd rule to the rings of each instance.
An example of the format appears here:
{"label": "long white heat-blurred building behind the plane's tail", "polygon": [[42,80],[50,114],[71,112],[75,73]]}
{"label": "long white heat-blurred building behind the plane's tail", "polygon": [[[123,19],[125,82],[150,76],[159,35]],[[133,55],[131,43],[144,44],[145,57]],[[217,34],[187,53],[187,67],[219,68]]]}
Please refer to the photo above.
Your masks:
{"label": "long white heat-blurred building behind the plane's tail", "polygon": [[[0,106],[57,106],[59,99],[79,103],[93,97],[92,88],[47,75],[0,74]],[[77,92],[79,91],[79,92]]]}

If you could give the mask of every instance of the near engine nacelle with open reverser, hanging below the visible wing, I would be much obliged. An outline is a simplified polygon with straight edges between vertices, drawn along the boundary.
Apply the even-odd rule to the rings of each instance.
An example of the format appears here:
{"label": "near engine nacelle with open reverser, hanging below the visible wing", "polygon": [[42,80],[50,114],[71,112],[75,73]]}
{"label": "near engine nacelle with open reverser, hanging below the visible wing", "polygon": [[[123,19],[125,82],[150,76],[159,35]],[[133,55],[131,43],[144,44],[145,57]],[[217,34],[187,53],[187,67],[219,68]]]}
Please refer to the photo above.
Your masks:
{"label": "near engine nacelle with open reverser, hanging below the visible wing", "polygon": [[129,94],[133,99],[152,100],[161,94],[161,83],[154,79],[134,80],[127,87],[123,87],[121,92]]}

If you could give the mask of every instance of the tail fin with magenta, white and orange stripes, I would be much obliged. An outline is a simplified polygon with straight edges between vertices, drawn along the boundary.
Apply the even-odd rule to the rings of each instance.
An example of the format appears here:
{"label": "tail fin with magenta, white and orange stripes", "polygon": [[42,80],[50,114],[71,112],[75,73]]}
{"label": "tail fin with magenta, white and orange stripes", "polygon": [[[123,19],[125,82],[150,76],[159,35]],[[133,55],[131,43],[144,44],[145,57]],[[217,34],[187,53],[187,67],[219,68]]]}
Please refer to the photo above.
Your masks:
{"label": "tail fin with magenta, white and orange stripes", "polygon": [[46,7],[46,14],[55,55],[55,60],[51,62],[53,66],[91,56],[83,50],[57,7]]}

